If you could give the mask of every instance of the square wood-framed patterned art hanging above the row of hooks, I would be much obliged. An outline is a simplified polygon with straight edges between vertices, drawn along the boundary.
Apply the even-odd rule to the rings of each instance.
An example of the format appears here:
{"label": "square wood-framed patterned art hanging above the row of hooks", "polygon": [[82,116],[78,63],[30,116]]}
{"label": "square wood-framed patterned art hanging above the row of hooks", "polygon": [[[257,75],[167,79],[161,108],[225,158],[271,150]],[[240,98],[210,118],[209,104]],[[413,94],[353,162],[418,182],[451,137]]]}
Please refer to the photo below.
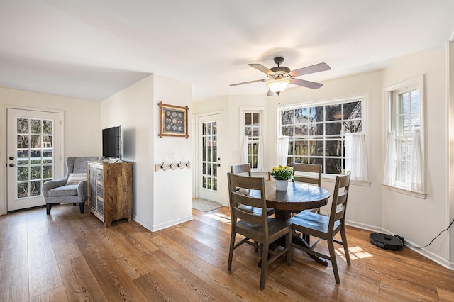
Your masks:
{"label": "square wood-framed patterned art hanging above the row of hooks", "polygon": [[189,107],[163,104],[162,101],[160,101],[158,105],[160,108],[159,137],[181,136],[189,138],[187,133],[187,111],[189,110]]}

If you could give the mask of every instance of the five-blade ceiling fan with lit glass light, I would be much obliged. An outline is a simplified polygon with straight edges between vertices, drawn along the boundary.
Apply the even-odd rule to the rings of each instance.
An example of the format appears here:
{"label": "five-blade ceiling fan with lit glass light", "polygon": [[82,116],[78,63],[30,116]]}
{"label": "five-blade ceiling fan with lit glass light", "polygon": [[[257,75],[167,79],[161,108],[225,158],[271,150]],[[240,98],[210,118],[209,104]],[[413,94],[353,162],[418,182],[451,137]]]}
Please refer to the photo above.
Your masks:
{"label": "five-blade ceiling fan with lit glass light", "polygon": [[261,64],[249,64],[250,67],[254,67],[261,72],[265,72],[268,77],[267,79],[257,79],[255,81],[231,84],[230,86],[238,86],[255,82],[267,82],[267,86],[269,88],[267,96],[274,94],[279,95],[287,88],[288,84],[294,84],[311,89],[319,89],[321,86],[323,86],[323,84],[306,81],[304,79],[296,79],[295,77],[299,77],[304,74],[311,74],[314,72],[324,72],[325,70],[331,69],[331,67],[329,67],[326,63],[319,63],[316,65],[306,66],[290,71],[288,67],[281,66],[282,62],[284,62],[284,57],[275,57],[274,60],[277,64],[277,67],[272,67],[270,69]]}

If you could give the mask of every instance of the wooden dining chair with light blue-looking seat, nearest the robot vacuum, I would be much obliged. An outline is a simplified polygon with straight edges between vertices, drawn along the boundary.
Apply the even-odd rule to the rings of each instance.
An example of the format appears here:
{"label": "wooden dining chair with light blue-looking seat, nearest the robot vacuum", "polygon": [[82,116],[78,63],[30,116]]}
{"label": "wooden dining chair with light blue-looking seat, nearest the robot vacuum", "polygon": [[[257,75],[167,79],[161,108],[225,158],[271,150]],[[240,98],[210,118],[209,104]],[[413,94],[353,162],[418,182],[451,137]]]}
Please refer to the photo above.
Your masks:
{"label": "wooden dining chair with light blue-looking seat, nearest the robot vacuum", "polygon": [[[311,211],[301,211],[296,216],[289,219],[292,223],[292,230],[297,230],[306,235],[318,237],[319,240],[314,242],[309,247],[301,247],[300,245],[293,245],[304,252],[328,259],[331,261],[334,271],[334,278],[336,283],[341,283],[339,279],[338,264],[336,261],[336,252],[334,250],[334,243],[343,245],[345,252],[345,259],[347,264],[350,264],[350,255],[348,254],[347,236],[345,235],[345,211],[347,211],[348,191],[350,188],[350,172],[345,175],[336,177],[336,184],[334,186],[333,203],[331,203],[330,216],[324,216],[319,213]],[[334,239],[334,236],[341,232],[342,241]],[[321,242],[326,240],[328,244],[329,255],[315,251],[315,247]]]}

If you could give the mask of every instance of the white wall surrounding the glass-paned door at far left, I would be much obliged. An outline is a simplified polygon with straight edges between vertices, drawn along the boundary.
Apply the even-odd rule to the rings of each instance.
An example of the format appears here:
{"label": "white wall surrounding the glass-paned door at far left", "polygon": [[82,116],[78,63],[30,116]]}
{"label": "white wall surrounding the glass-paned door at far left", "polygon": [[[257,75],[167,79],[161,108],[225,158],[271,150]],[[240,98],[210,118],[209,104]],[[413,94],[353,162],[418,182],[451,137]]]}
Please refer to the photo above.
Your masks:
{"label": "white wall surrounding the glass-paned door at far left", "polygon": [[63,111],[63,166],[68,156],[101,154],[99,102],[0,87],[0,215],[6,213],[6,108],[10,107]]}

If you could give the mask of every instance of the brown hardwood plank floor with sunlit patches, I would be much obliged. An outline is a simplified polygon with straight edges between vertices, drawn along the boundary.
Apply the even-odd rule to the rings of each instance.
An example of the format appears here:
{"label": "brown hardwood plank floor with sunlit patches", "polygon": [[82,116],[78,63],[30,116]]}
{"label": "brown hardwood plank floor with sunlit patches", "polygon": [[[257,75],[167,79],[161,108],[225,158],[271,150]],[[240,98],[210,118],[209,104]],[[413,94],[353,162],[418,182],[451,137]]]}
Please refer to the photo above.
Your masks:
{"label": "brown hardwood plank floor with sunlit patches", "polygon": [[454,301],[454,272],[375,247],[358,228],[347,229],[350,266],[337,249],[341,284],[331,264],[294,250],[260,291],[253,247],[238,247],[227,271],[228,208],[193,215],[155,233],[126,220],[104,228],[72,205],[0,216],[0,301]]}

